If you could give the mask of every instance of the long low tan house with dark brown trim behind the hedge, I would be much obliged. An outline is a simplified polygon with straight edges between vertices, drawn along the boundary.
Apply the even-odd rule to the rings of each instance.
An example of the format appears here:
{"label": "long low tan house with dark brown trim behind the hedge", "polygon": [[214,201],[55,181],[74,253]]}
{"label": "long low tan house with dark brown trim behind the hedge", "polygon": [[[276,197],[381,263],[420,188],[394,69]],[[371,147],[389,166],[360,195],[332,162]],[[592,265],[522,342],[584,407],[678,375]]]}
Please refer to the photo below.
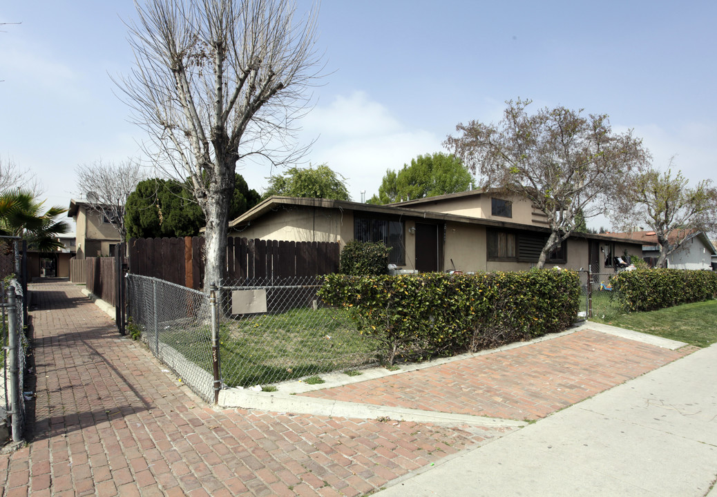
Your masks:
{"label": "long low tan house with dark brown trim behind the hedge", "polygon": [[[391,264],[409,271],[518,271],[535,266],[549,236],[530,203],[465,192],[389,206],[321,198],[270,197],[229,223],[230,236],[288,241],[383,241]],[[641,243],[577,233],[546,264],[593,264],[613,272],[612,254],[639,255]]]}

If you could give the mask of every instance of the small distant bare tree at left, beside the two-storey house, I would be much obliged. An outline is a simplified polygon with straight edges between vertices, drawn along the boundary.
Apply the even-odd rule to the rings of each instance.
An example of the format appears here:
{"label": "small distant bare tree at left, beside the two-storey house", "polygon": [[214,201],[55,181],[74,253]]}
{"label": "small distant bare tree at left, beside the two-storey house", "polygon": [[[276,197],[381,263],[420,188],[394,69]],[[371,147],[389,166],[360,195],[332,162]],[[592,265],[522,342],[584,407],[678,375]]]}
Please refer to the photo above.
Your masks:
{"label": "small distant bare tree at left, beside the two-storey house", "polygon": [[133,160],[120,163],[103,163],[97,160],[92,164],[78,165],[78,192],[90,211],[110,223],[120,238],[127,237],[125,226],[125,203],[137,183],[145,178],[141,165]]}

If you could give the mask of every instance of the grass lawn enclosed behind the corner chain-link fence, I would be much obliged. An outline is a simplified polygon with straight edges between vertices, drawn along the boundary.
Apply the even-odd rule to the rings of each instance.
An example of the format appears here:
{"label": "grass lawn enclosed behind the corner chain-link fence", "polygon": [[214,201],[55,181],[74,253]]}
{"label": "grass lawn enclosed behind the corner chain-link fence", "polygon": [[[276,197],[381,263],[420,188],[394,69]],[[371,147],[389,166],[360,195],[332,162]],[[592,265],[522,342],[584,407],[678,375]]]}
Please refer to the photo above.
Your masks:
{"label": "grass lawn enclosed behind the corner chain-link fence", "polygon": [[[177,329],[163,332],[161,339],[211,371],[209,335],[209,329]],[[372,364],[376,343],[356,331],[343,309],[292,309],[223,318],[219,358],[226,385],[250,387]]]}

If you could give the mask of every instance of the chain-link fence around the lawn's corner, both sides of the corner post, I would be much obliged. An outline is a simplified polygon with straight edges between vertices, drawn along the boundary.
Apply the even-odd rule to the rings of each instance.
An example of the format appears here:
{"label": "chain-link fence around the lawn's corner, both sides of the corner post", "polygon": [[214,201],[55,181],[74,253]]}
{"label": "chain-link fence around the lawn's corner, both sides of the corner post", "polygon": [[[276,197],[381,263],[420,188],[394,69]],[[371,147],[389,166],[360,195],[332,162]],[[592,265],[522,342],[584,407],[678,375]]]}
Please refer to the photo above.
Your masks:
{"label": "chain-link fence around the lawn's corner, both sides of the corner post", "polygon": [[316,276],[225,282],[206,294],[148,276],[127,281],[128,333],[141,332],[208,402],[219,385],[266,386],[377,363],[374,342],[348,311],[320,300]]}

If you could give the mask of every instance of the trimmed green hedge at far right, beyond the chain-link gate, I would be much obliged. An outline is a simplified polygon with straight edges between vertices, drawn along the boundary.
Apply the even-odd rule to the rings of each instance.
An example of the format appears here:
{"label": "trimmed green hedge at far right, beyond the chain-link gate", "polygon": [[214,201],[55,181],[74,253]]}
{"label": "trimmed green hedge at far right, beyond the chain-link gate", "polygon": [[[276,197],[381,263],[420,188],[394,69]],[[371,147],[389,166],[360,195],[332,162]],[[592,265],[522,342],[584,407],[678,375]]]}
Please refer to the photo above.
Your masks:
{"label": "trimmed green hedge at far right, beyond the chain-link gate", "polygon": [[717,273],[686,269],[637,269],[610,279],[625,312],[653,311],[717,297]]}

